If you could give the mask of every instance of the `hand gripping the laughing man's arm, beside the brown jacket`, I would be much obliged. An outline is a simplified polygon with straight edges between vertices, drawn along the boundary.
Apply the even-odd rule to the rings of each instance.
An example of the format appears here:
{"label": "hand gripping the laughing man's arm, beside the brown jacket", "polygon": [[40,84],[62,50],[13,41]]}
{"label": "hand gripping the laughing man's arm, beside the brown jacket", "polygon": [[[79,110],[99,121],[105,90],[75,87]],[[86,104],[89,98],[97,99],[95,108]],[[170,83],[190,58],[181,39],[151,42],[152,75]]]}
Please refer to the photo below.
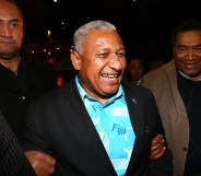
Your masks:
{"label": "hand gripping the laughing man's arm, beside the brown jacket", "polygon": [[162,134],[157,134],[152,140],[150,160],[157,160],[157,159],[159,159],[164,154],[164,152],[165,152],[165,146],[164,146],[163,136]]}

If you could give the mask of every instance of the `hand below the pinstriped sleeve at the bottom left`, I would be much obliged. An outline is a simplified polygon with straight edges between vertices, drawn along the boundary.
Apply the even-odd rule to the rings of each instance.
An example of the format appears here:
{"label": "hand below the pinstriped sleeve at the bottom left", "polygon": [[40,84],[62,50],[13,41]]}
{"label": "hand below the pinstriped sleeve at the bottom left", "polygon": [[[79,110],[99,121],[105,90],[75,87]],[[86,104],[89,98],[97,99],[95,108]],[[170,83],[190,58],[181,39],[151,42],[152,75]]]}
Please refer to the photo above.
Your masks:
{"label": "hand below the pinstriped sleeve at the bottom left", "polygon": [[32,164],[36,176],[49,176],[55,172],[56,160],[40,151],[25,151],[25,155]]}

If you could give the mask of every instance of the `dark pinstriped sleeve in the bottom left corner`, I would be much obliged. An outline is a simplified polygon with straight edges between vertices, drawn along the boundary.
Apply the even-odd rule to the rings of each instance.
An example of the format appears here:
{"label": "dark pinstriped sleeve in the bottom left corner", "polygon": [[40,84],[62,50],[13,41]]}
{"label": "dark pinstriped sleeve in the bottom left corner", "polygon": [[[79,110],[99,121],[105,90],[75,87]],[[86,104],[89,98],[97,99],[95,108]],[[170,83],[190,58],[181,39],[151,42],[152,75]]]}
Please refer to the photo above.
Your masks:
{"label": "dark pinstriped sleeve in the bottom left corner", "polygon": [[0,175],[35,176],[9,124],[0,113]]}

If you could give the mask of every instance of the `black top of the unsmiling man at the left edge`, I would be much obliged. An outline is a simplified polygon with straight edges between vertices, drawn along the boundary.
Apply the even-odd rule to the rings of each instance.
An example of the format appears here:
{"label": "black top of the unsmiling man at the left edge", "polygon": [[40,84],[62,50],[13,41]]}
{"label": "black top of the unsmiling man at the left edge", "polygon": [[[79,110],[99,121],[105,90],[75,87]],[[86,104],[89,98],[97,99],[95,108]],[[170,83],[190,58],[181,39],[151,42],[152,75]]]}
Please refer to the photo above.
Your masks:
{"label": "black top of the unsmiling man at the left edge", "polygon": [[22,144],[24,121],[32,98],[56,87],[56,77],[22,52],[19,74],[0,64],[0,109]]}

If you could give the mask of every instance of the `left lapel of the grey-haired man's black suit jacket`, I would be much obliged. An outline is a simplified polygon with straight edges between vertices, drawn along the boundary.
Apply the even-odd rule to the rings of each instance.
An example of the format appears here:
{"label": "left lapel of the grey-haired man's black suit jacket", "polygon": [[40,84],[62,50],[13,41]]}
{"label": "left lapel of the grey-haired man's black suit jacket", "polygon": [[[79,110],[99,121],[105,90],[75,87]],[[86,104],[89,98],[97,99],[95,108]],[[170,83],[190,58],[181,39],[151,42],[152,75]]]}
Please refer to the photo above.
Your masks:
{"label": "left lapel of the grey-haired man's black suit jacket", "polygon": [[81,96],[75,87],[75,84],[72,83],[70,86],[71,91],[63,91],[63,108],[69,114],[69,107],[73,107],[73,109],[71,109],[71,115],[69,116],[69,118],[71,118],[72,125],[74,125],[80,136],[82,136],[82,138],[86,141],[86,145],[91,148],[91,151],[97,155],[97,159],[100,159],[103,163],[110,169],[110,172],[115,173],[115,169],[93,125],[93,121],[91,120],[84,103],[82,102]]}

